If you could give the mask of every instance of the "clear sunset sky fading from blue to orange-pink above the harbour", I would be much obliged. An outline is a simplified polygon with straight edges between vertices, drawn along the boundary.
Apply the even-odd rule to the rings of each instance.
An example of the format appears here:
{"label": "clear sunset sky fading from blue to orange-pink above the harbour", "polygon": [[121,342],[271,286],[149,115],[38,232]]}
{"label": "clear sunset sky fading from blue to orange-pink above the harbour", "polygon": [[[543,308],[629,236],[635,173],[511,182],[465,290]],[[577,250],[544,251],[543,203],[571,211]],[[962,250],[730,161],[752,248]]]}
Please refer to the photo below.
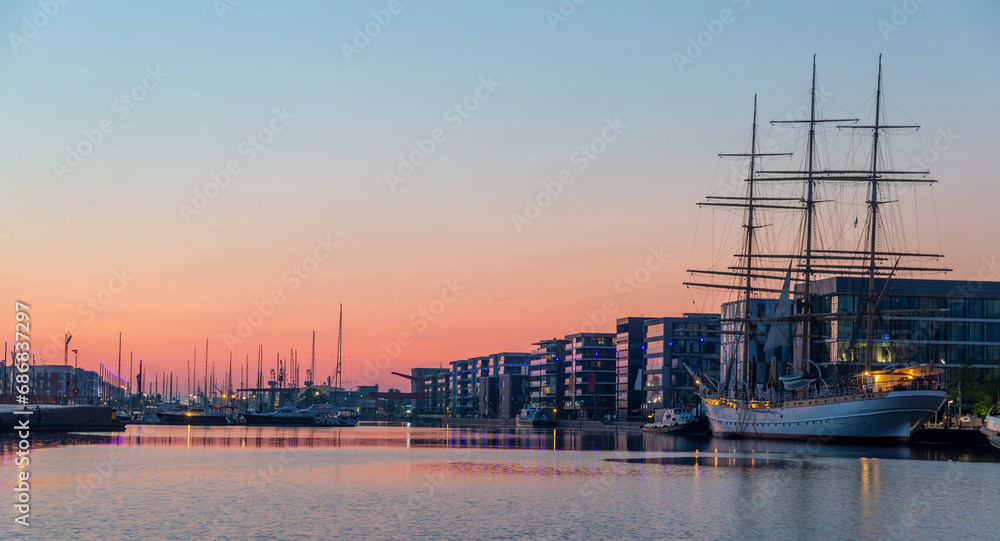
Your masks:
{"label": "clear sunset sky fading from blue to orange-pink above the harbour", "polygon": [[682,285],[713,256],[696,203],[814,54],[831,114],[870,109],[883,55],[922,126],[902,161],[941,181],[921,238],[1000,279],[996,2],[11,1],[0,29],[0,337],[28,304],[38,362],[69,331],[117,371],[120,332],[186,386],[206,339],[221,377],[259,345],[304,370],[315,331],[325,380],[342,304],[347,386],[405,388],[716,311]]}

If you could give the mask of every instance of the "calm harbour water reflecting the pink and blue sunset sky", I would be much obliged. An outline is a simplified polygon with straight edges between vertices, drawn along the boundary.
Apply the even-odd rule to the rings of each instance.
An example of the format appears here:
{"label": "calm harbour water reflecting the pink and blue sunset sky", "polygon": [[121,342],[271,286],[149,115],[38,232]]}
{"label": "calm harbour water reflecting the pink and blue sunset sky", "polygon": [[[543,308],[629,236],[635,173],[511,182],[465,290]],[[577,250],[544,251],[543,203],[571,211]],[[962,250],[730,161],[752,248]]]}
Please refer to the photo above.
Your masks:
{"label": "calm harbour water reflecting the pink and blue sunset sky", "polygon": [[[363,426],[130,426],[33,443],[31,526],[8,512],[3,539],[996,539],[1000,527],[990,447]],[[12,445],[0,440],[6,505]]]}

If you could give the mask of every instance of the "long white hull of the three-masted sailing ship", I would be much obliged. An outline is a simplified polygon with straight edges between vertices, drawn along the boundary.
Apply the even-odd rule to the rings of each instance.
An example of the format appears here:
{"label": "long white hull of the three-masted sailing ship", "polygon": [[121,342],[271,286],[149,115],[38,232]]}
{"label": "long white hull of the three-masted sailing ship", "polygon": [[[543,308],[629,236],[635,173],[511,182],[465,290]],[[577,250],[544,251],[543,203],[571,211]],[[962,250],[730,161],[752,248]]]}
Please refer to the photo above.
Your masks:
{"label": "long white hull of the three-masted sailing ship", "polygon": [[888,391],[733,407],[705,400],[712,433],[722,437],[819,441],[908,441],[947,399],[939,390]]}

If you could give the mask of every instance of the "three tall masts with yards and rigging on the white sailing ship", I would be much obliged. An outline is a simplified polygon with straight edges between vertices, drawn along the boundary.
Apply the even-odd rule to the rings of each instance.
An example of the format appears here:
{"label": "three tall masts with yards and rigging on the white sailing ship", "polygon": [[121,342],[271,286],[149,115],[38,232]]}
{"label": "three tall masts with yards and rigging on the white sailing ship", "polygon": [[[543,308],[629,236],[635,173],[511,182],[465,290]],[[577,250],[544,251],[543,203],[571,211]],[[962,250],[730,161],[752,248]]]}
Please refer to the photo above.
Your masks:
{"label": "three tall masts with yards and rigging on the white sailing ship", "polygon": [[[741,335],[740,341],[737,342],[743,347],[742,355],[739,357],[733,356],[729,359],[723,359],[723,362],[732,361],[738,362],[742,369],[742,376],[746,378],[746,383],[749,385],[751,380],[749,378],[750,374],[750,346],[752,344],[751,337],[755,336],[757,333],[753,332],[753,323],[770,322],[773,323],[775,320],[773,318],[753,318],[750,317],[750,299],[755,293],[776,293],[780,294],[782,291],[773,287],[761,287],[759,281],[784,281],[786,278],[786,264],[779,263],[781,260],[785,260],[787,263],[787,273],[788,275],[794,276],[793,279],[797,281],[804,282],[802,287],[799,288],[798,294],[800,296],[800,309],[798,313],[790,316],[793,321],[801,321],[801,333],[798,337],[801,337],[802,344],[800,347],[795,348],[795,353],[801,355],[800,357],[793,359],[793,364],[797,363],[796,369],[802,370],[806,364],[806,361],[810,359],[812,355],[812,335],[815,332],[813,327],[817,327],[820,321],[836,321],[840,319],[849,319],[858,317],[862,315],[859,312],[853,312],[851,314],[838,312],[834,310],[833,313],[816,313],[815,307],[813,306],[812,299],[812,281],[816,277],[823,276],[858,276],[865,277],[868,280],[868,298],[867,306],[863,315],[867,316],[867,343],[866,343],[866,360],[865,367],[869,370],[871,367],[871,362],[874,360],[874,320],[878,314],[878,304],[880,295],[876,294],[875,290],[875,278],[886,279],[891,277],[897,271],[903,272],[948,272],[951,269],[947,268],[931,268],[926,265],[916,265],[911,264],[908,266],[899,266],[899,261],[901,258],[941,258],[940,254],[925,254],[925,253],[914,253],[906,250],[901,251],[891,251],[887,247],[883,247],[880,251],[879,249],[879,239],[878,239],[878,219],[881,214],[881,205],[886,203],[892,203],[893,201],[885,200],[885,198],[879,197],[879,189],[883,189],[882,185],[889,183],[890,185],[895,185],[897,183],[934,183],[935,180],[926,177],[928,175],[927,171],[902,171],[893,170],[891,167],[882,167],[879,169],[879,145],[884,146],[883,138],[880,134],[883,130],[888,129],[917,129],[919,126],[894,126],[886,125],[881,122],[881,116],[883,115],[883,109],[885,108],[882,103],[882,68],[881,68],[881,57],[879,58],[879,78],[878,78],[878,91],[876,94],[875,103],[875,116],[876,120],[874,125],[871,126],[858,126],[855,124],[843,125],[843,123],[854,123],[857,122],[856,118],[843,118],[843,119],[828,119],[828,118],[817,118],[818,116],[818,104],[817,104],[817,92],[816,92],[816,55],[813,55],[812,62],[812,80],[810,85],[810,103],[809,103],[809,117],[807,119],[795,119],[795,120],[773,120],[772,124],[808,124],[808,139],[806,141],[806,151],[807,158],[799,170],[786,170],[786,171],[772,171],[760,166],[761,156],[775,156],[775,155],[789,155],[789,154],[761,154],[756,152],[756,135],[757,135],[757,125],[756,125],[756,96],[754,97],[754,124],[753,130],[751,132],[751,149],[748,154],[720,154],[720,156],[741,156],[750,158],[750,171],[747,175],[748,178],[745,180],[748,184],[748,189],[745,196],[738,197],[720,197],[720,196],[709,196],[709,200],[727,200],[727,201],[710,201],[699,203],[699,206],[712,206],[712,207],[736,207],[746,209],[746,223],[744,227],[746,228],[745,236],[745,252],[742,254],[734,254],[739,258],[739,262],[735,265],[729,266],[725,270],[688,270],[690,273],[694,274],[711,274],[717,276],[725,276],[735,278],[737,284],[729,283],[700,283],[700,282],[684,282],[686,286],[695,287],[708,287],[708,288],[722,288],[729,290],[738,290],[739,296],[741,297],[742,303],[745,307],[745,312],[743,317],[733,317],[723,319],[724,323],[733,324],[732,329],[723,329],[719,331],[720,334],[729,335]],[[817,127],[823,123],[839,123],[837,128],[839,129],[870,129],[873,131],[873,141],[872,141],[872,159],[870,164],[865,163],[860,166],[850,166],[847,168],[826,168],[822,167],[819,163],[819,157],[817,154]],[[885,164],[882,164],[885,165]],[[760,182],[778,182],[778,183],[788,183],[788,182],[805,182],[805,185],[801,196],[799,197],[761,197],[759,193]],[[817,205],[823,203],[817,197],[817,187],[820,182],[847,182],[852,184],[865,184],[869,185],[870,189],[866,186],[863,190],[868,198],[868,219],[870,222],[866,224],[866,235],[867,237],[861,241],[861,246],[851,247],[837,247],[832,246],[824,248],[819,246],[819,237],[814,235],[814,228],[818,224],[816,212],[818,210]],[[885,195],[885,194],[883,194]],[[759,248],[755,246],[756,230],[762,227],[758,225],[761,216],[759,212],[762,210],[770,211],[771,209],[788,209],[796,210],[798,212],[803,212],[802,216],[802,227],[804,230],[801,232],[798,242],[796,243],[799,247],[798,250],[793,250],[798,253],[772,253],[771,251],[758,250]],[[816,238],[814,238],[816,237]],[[759,240],[757,241],[759,244]],[[891,269],[880,268],[878,266],[879,261],[884,261],[886,259],[893,258],[896,260],[895,266]],[[795,263],[797,262],[797,264]],[[778,274],[780,272],[780,274]],[[755,285],[756,284],[756,285]],[[883,286],[884,292],[884,286]],[[904,312],[909,313],[914,310],[905,310]],[[925,310],[916,310],[925,311]],[[899,311],[896,311],[899,312]],[[794,356],[793,356],[794,357]],[[728,376],[727,376],[728,378]]]}

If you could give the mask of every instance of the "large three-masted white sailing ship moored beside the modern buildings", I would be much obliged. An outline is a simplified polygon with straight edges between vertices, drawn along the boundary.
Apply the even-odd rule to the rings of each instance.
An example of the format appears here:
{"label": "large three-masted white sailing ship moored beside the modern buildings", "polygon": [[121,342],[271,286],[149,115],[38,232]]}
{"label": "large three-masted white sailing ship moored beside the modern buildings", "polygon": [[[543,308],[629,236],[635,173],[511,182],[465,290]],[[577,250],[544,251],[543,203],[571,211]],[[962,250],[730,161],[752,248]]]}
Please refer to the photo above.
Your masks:
{"label": "large three-masted white sailing ship moored beside the modern buildings", "polygon": [[[939,379],[941,369],[933,364],[875,364],[873,335],[879,321],[886,316],[922,311],[880,310],[888,281],[898,272],[950,270],[930,266],[933,259],[943,256],[919,253],[905,242],[896,247],[893,242],[898,244],[899,237],[887,234],[894,220],[885,218],[887,209],[883,207],[897,203],[890,199],[893,187],[935,181],[928,178],[926,171],[895,170],[891,166],[887,154],[890,145],[885,144],[887,134],[916,130],[918,126],[886,122],[884,108],[880,56],[873,122],[858,125],[852,118],[819,118],[814,56],[808,118],[773,121],[801,124],[808,129],[803,166],[784,171],[762,167],[764,162],[791,154],[758,151],[756,96],[749,151],[720,154],[748,161],[743,179],[745,191],[735,196],[710,196],[701,205],[740,213],[743,233],[739,253],[733,254],[735,262],[731,266],[689,271],[711,276],[715,281],[685,283],[728,289],[736,294],[727,304],[734,309],[728,314],[724,310],[723,314],[722,332],[732,337],[729,342],[735,347],[729,348],[728,355],[724,350],[720,380],[693,373],[716,435],[905,441],[947,399]],[[831,125],[862,137],[851,139],[855,144],[842,158],[843,165],[819,163],[818,145],[822,141],[818,141],[817,132]],[[854,234],[853,244],[842,242],[844,234],[820,235],[818,229],[824,205],[833,202],[821,199],[820,190],[825,196],[846,197],[850,191],[841,189],[845,186],[863,192],[866,199],[864,232]],[[765,229],[774,225],[769,221],[794,223],[795,233],[788,235],[790,240],[779,241],[775,231]],[[830,225],[834,221],[827,217],[822,223]],[[867,278],[867,292],[859,292],[857,310],[819,310],[814,306],[811,285],[830,276]],[[772,303],[770,317],[759,309],[763,300]],[[842,320],[853,324],[856,332],[865,331],[864,347],[857,348],[855,362],[815,362],[813,346],[824,338],[816,333],[825,324]],[[760,340],[765,338],[761,348]],[[764,359],[758,358],[761,351]]]}

